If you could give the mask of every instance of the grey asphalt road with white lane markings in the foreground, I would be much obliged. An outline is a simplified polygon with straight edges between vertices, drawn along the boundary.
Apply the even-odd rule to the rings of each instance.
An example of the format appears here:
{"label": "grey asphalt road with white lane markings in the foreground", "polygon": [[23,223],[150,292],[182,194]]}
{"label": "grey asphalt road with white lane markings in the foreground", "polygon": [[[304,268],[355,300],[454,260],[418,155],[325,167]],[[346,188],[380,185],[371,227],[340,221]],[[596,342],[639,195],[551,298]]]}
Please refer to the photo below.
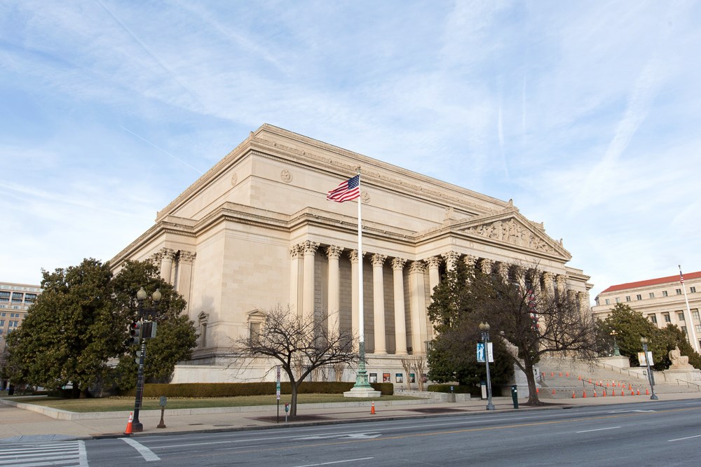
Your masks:
{"label": "grey asphalt road with white lane markings in the foreground", "polygon": [[[34,445],[75,466],[697,466],[701,400]],[[19,447],[14,446],[15,449]],[[15,462],[41,464],[32,446]],[[56,454],[59,452],[60,454]],[[70,454],[65,454],[69,452]],[[67,456],[75,457],[67,457]],[[72,463],[72,459],[75,459]]]}

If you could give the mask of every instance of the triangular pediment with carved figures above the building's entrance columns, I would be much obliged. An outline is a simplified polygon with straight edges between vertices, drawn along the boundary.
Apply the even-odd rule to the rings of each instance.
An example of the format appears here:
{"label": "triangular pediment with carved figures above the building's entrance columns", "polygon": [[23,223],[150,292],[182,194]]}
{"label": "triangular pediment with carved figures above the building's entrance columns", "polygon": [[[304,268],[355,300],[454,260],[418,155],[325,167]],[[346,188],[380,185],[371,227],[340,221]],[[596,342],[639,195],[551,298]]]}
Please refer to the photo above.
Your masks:
{"label": "triangular pediment with carved figures above the building's entrance columns", "polygon": [[470,235],[496,242],[571,258],[569,252],[562,247],[562,243],[554,241],[545,234],[543,223],[529,221],[519,214],[515,207],[504,209],[496,215],[472,218],[460,227],[454,227]]}

